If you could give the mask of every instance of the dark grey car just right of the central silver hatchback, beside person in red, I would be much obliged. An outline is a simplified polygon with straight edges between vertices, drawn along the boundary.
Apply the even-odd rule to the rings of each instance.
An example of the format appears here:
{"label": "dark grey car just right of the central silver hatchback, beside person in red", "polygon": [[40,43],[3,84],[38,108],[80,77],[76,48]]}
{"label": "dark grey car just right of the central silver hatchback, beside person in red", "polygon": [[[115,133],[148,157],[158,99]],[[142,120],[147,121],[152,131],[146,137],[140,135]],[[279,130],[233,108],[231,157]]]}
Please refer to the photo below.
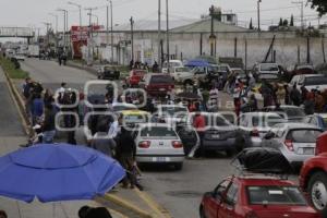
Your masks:
{"label": "dark grey car just right of the central silver hatchback, beside person in red", "polygon": [[[202,153],[225,152],[232,156],[243,147],[243,135],[237,125],[231,124],[219,113],[203,113],[206,120],[206,129],[202,140]],[[194,117],[190,116],[192,123]]]}

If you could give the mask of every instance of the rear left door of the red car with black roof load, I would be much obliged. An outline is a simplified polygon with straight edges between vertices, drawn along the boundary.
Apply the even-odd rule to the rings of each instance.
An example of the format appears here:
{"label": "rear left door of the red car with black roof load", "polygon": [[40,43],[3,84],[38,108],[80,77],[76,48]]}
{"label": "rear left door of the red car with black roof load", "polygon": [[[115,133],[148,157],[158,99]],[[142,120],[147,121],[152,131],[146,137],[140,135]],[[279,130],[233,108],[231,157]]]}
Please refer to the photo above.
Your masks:
{"label": "rear left door of the red car with black roof load", "polygon": [[218,210],[219,218],[234,218],[237,216],[235,205],[238,203],[238,196],[239,196],[239,184],[232,182],[229,185],[225,198],[220,204]]}

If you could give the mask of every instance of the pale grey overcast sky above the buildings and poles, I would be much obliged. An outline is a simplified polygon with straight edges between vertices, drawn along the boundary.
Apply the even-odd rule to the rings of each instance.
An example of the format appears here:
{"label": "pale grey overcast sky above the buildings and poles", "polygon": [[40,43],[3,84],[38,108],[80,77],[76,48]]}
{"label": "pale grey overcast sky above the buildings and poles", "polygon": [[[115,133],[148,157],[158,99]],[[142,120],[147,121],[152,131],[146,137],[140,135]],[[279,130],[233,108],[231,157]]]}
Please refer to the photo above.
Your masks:
{"label": "pale grey overcast sky above the buildings and poles", "polygon": [[[87,12],[84,8],[99,7],[95,14],[99,17],[100,24],[106,24],[106,0],[72,0],[83,5],[83,24],[88,24]],[[165,10],[166,0],[161,0]],[[198,19],[201,14],[208,13],[208,8],[214,4],[221,7],[222,11],[232,11],[238,14],[239,25],[249,26],[250,19],[256,25],[256,3],[257,0],[169,0],[171,20]],[[59,31],[63,27],[62,12],[56,11],[58,8],[69,10],[69,25],[78,24],[78,10],[69,5],[66,0],[1,0],[0,1],[0,26],[36,26],[43,27],[43,22],[51,22],[55,26],[55,17],[48,13],[59,15]],[[300,23],[300,8],[291,0],[262,0],[262,24],[268,26],[278,24],[282,16],[289,19],[294,14],[295,22]],[[113,0],[114,24],[124,24],[131,16],[135,21],[157,20],[158,0]],[[164,13],[164,11],[162,11]],[[306,7],[304,10],[305,20],[317,24],[317,13]],[[96,19],[94,17],[94,21]],[[326,16],[322,23],[327,22]]]}

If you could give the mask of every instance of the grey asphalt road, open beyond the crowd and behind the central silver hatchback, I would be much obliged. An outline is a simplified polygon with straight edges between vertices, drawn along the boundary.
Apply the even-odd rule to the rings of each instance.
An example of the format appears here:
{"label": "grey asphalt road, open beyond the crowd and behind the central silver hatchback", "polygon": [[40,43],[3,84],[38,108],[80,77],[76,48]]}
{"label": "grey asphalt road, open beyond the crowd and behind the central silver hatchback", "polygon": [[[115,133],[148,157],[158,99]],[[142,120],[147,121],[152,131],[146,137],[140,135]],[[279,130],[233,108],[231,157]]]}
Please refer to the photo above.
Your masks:
{"label": "grey asphalt road, open beyond the crowd and behind the central silver hatchback", "polygon": [[[22,68],[45,88],[51,89],[60,87],[61,82],[80,89],[85,82],[96,78],[86,71],[59,66],[53,61],[26,59]],[[149,166],[144,169],[141,183],[172,217],[195,218],[203,193],[214,190],[221,179],[233,172],[230,161],[225,154],[217,154],[206,159],[186,160],[181,171]]]}

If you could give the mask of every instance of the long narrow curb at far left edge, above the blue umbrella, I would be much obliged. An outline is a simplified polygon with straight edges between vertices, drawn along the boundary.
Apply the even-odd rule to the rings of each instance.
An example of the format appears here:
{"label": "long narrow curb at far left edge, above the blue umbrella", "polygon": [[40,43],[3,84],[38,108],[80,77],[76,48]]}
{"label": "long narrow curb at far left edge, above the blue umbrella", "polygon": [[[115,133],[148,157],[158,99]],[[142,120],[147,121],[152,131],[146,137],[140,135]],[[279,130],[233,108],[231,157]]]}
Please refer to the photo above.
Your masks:
{"label": "long narrow curb at far left edge, above the blue umbrella", "polygon": [[11,95],[11,98],[14,102],[14,105],[17,108],[19,111],[19,116],[22,120],[22,125],[23,125],[23,130],[25,132],[26,135],[31,135],[32,134],[32,129],[29,128],[28,123],[29,120],[25,113],[25,104],[24,100],[22,99],[19,90],[16,89],[15,85],[13,84],[12,80],[10,78],[9,74],[3,70],[3,68],[0,65],[1,70],[4,73],[5,76],[5,81],[7,81],[7,85],[9,87],[9,93]]}

